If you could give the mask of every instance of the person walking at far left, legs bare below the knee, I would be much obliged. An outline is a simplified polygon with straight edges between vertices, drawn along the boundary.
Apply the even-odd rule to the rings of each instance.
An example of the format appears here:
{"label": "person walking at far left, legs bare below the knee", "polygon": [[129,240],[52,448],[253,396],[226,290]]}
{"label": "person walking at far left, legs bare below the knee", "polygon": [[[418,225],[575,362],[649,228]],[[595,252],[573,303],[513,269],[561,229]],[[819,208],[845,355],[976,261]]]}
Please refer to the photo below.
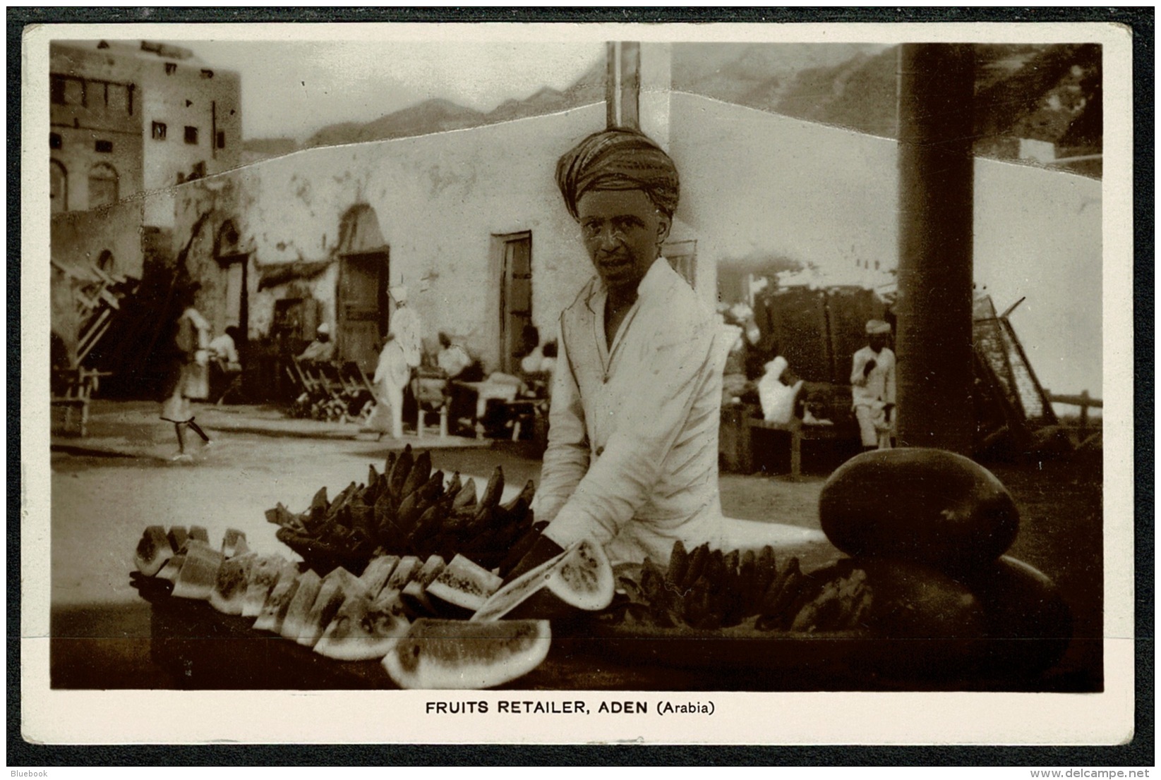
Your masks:
{"label": "person walking at far left, legs bare below the knee", "polygon": [[207,445],[210,438],[194,421],[192,399],[209,396],[209,344],[210,326],[194,308],[194,297],[201,286],[196,282],[181,290],[178,304],[182,308],[178,317],[172,344],[172,359],[166,398],[161,404],[161,419],[173,423],[178,436],[178,454],[174,460],[190,460],[186,453],[185,428],[190,428]]}

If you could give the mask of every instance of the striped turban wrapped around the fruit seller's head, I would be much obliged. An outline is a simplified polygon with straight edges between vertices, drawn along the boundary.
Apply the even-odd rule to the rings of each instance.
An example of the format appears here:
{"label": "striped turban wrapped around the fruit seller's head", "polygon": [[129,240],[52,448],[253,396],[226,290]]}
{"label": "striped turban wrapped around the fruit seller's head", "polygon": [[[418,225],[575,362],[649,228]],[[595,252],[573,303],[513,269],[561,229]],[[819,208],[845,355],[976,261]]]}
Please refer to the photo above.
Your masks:
{"label": "striped turban wrapped around the fruit seller's head", "polygon": [[593,189],[640,189],[668,217],[677,209],[677,167],[661,146],[640,130],[594,132],[556,162],[556,185],[569,214]]}

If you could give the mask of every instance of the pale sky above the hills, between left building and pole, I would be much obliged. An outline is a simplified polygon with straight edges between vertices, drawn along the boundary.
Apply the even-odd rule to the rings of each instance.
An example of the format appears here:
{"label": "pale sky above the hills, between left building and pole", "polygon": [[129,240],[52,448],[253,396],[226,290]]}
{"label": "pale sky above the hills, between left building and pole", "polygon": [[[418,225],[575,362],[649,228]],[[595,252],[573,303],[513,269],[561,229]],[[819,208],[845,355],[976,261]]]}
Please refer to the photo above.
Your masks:
{"label": "pale sky above the hills, between left building and pole", "polygon": [[244,138],[303,140],[431,98],[488,111],[545,86],[563,89],[598,59],[583,42],[174,41],[241,74]]}

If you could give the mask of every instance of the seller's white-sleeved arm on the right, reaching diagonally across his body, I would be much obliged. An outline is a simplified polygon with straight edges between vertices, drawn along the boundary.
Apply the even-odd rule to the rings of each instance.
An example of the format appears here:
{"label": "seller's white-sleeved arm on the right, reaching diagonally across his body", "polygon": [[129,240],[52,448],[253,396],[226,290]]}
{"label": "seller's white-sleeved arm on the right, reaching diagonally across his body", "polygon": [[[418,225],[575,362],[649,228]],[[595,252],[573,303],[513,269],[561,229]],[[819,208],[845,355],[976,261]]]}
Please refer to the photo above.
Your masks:
{"label": "seller's white-sleeved arm on the right, reaching diagonally across his body", "polygon": [[678,325],[655,334],[654,344],[636,367],[637,387],[618,411],[605,452],[545,530],[562,547],[584,536],[606,544],[633,519],[657,484],[707,371],[717,368],[712,327]]}

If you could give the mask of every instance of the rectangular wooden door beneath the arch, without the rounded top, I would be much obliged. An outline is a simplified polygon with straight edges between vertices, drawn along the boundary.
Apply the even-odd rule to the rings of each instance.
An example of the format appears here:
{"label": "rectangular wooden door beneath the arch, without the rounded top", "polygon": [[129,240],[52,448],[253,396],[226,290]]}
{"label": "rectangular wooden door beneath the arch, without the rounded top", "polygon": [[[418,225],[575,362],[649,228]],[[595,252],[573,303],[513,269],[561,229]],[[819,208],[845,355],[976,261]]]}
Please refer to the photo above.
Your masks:
{"label": "rectangular wooden door beneath the arch, without the rounded top", "polygon": [[337,337],[340,360],[372,374],[387,334],[388,254],[346,254],[339,266]]}

